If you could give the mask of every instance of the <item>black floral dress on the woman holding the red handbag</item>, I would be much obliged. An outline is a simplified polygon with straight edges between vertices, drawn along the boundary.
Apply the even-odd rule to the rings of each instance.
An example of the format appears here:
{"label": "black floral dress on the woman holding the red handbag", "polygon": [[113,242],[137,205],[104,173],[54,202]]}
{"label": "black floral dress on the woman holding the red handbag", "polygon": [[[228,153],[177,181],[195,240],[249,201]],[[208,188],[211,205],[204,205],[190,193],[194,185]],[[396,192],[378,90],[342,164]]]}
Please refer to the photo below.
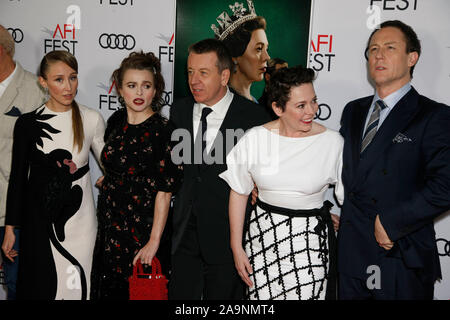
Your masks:
{"label": "black floral dress on the woman holding the red handbag", "polygon": [[[108,120],[101,154],[105,178],[98,198],[91,299],[128,299],[128,277],[135,255],[149,240],[156,194],[175,192],[182,177],[182,167],[170,157],[172,131],[158,113],[138,125],[127,123],[125,109]],[[156,253],[166,276],[169,226],[168,219]]]}

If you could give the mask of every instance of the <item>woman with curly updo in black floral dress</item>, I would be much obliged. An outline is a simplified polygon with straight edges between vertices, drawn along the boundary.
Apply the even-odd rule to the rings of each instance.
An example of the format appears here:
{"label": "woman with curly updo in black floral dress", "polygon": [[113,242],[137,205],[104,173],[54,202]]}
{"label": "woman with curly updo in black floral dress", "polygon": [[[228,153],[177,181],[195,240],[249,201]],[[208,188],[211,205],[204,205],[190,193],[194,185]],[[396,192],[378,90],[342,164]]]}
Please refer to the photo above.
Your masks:
{"label": "woman with curly updo in black floral dress", "polygon": [[172,163],[173,128],[159,114],[164,79],[153,53],[131,53],[114,71],[124,108],[107,122],[98,184],[98,234],[92,299],[128,299],[128,277],[140,259],[156,256],[167,275],[170,236],[164,231],[182,167]]}

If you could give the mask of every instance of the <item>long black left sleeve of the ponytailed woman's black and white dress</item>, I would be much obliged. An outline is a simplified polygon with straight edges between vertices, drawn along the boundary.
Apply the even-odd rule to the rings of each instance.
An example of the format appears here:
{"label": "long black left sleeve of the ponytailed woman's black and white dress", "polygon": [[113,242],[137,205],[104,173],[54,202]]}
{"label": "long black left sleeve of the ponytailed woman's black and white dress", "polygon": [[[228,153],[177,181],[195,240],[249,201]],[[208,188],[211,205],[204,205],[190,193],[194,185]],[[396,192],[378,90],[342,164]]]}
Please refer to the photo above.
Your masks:
{"label": "long black left sleeve of the ponytailed woman's black and white dress", "polygon": [[20,226],[27,203],[29,150],[31,150],[27,132],[29,132],[27,121],[24,116],[21,116],[14,126],[5,225]]}

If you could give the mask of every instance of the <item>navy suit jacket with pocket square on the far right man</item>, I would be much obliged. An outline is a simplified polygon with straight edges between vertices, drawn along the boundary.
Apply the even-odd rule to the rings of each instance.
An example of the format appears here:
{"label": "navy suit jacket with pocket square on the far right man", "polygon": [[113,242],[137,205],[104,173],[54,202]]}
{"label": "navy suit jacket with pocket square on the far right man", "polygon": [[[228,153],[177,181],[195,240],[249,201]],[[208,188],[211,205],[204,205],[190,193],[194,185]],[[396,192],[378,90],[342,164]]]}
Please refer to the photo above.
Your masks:
{"label": "navy suit jacket with pocket square on the far right man", "polygon": [[[341,120],[345,199],[338,233],[338,270],[367,279],[381,259],[403,259],[423,281],[441,277],[433,219],[450,209],[450,107],[412,88],[362,155],[373,96],[352,101]],[[376,215],[394,247],[379,247]],[[382,272],[389,270],[382,270]]]}

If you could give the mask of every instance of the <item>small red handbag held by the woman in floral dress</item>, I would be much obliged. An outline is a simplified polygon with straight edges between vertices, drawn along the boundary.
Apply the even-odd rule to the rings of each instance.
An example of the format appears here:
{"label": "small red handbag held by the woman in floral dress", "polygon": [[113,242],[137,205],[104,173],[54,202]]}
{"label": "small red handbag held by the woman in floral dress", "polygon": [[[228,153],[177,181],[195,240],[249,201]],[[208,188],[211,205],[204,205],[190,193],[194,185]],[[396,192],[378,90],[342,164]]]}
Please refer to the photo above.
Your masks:
{"label": "small red handbag held by the woman in floral dress", "polygon": [[167,282],[156,257],[152,260],[151,274],[144,273],[138,260],[133,267],[133,275],[128,278],[130,300],[167,300]]}

